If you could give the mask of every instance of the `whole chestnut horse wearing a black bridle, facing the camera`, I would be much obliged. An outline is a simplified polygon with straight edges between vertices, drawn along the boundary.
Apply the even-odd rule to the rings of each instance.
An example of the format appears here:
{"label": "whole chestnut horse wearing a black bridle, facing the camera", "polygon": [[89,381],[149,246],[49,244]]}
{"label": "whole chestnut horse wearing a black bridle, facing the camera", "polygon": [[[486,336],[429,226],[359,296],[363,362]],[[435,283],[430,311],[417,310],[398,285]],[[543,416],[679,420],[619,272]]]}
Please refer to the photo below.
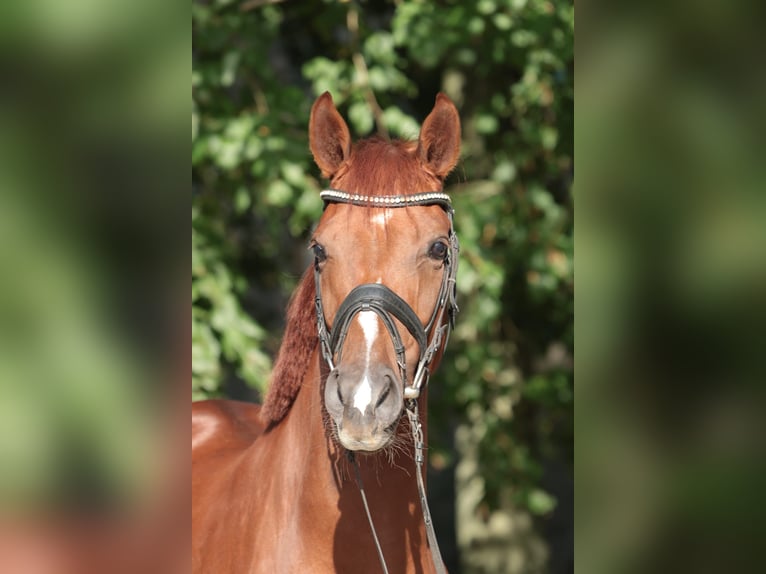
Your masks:
{"label": "whole chestnut horse wearing a black bridle, facing the camera", "polygon": [[439,94],[417,141],[352,145],[325,93],[309,136],[331,189],[264,403],[192,404],[193,571],[443,572],[420,467],[457,311],[457,110]]}

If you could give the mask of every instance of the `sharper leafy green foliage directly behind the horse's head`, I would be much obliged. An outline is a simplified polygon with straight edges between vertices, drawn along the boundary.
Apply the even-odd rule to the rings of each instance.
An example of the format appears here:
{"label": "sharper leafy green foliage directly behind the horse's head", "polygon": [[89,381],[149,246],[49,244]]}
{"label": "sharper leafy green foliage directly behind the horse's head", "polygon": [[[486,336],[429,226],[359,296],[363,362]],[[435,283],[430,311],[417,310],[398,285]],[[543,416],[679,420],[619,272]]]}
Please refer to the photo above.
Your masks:
{"label": "sharper leafy green foliage directly behind the horse's head", "polygon": [[549,513],[543,464],[573,448],[573,5],[219,0],[192,15],[193,396],[267,381],[321,214],[314,97],[329,90],[356,138],[414,138],[443,91],[463,122],[446,186],[461,313],[431,386],[432,460],[451,462],[439,437],[468,421],[487,507],[512,485]]}

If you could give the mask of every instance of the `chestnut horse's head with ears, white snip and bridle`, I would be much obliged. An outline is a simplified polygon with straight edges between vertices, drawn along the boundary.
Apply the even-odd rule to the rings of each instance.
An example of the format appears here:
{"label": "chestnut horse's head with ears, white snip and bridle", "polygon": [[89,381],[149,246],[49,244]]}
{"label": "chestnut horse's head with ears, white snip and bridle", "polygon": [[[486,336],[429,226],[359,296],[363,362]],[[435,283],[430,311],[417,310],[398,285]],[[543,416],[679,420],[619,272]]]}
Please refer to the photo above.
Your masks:
{"label": "chestnut horse's head with ears, white snip and bridle", "polygon": [[324,407],[343,447],[377,451],[438,364],[456,311],[457,239],[442,188],[458,161],[460,120],[439,94],[417,141],[352,144],[325,93],[309,139],[331,188],[311,240]]}

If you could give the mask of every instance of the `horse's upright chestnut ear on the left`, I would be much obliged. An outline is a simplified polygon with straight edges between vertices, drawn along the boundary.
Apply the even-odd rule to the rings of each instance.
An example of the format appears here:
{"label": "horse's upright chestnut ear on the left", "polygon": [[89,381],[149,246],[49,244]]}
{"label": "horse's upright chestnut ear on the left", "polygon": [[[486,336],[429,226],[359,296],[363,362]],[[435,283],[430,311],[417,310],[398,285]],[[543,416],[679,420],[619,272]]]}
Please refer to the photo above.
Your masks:
{"label": "horse's upright chestnut ear on the left", "polygon": [[317,98],[309,119],[309,146],[322,176],[331,178],[351,152],[348,126],[335,109],[330,92]]}

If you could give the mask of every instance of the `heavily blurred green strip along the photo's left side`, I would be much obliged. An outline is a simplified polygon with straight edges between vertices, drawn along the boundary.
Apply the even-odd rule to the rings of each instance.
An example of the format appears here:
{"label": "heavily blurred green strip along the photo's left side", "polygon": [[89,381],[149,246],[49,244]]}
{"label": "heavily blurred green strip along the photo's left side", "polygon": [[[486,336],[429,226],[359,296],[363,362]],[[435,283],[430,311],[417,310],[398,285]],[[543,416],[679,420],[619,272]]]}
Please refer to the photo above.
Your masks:
{"label": "heavily blurred green strip along the photo's left side", "polygon": [[[172,236],[188,184],[171,172],[188,157],[190,40],[152,4],[0,6],[2,571],[94,571],[67,556],[71,523],[156,520],[161,483],[188,472],[172,454],[186,444],[164,449],[188,436],[167,423],[187,379]],[[22,531],[40,538],[8,540]]]}

